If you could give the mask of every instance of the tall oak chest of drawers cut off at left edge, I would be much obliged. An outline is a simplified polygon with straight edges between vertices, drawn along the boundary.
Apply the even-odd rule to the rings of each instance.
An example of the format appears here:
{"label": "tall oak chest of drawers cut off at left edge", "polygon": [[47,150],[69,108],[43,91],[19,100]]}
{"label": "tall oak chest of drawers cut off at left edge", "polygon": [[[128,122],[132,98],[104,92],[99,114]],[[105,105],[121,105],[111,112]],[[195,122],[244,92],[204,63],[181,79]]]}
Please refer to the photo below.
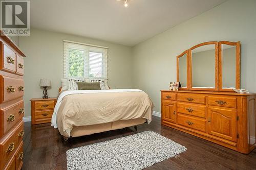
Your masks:
{"label": "tall oak chest of drawers cut off at left edge", "polygon": [[7,36],[0,36],[0,169],[23,165],[23,57]]}

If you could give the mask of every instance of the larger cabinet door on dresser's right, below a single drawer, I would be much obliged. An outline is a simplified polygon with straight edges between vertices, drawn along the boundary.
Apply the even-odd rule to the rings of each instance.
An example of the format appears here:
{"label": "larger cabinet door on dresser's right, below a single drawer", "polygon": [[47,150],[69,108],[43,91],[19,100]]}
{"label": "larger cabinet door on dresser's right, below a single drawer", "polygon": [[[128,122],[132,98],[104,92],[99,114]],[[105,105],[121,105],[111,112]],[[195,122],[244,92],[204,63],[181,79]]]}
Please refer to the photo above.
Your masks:
{"label": "larger cabinet door on dresser's right, below a single drawer", "polygon": [[208,133],[237,141],[237,111],[232,108],[208,108]]}

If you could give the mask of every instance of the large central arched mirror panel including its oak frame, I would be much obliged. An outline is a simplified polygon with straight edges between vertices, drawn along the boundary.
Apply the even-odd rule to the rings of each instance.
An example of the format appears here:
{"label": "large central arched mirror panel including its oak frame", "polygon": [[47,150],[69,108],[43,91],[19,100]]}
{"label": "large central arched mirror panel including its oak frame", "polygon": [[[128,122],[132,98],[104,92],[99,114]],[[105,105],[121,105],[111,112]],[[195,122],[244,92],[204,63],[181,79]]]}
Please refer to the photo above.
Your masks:
{"label": "large central arched mirror panel including its oak frame", "polygon": [[218,42],[210,41],[190,48],[189,89],[218,90]]}

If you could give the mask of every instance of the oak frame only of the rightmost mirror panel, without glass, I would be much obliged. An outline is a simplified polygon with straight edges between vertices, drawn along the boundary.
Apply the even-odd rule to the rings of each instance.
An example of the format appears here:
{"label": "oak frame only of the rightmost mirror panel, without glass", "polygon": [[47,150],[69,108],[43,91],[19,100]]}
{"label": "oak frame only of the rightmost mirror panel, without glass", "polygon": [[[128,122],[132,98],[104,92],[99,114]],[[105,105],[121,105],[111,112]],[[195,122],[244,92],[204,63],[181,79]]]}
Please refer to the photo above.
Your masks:
{"label": "oak frame only of the rightmost mirror panel, without glass", "polygon": [[226,89],[222,87],[222,44],[236,46],[236,89],[240,89],[240,41],[220,41],[219,42],[219,91],[233,91],[232,89]]}

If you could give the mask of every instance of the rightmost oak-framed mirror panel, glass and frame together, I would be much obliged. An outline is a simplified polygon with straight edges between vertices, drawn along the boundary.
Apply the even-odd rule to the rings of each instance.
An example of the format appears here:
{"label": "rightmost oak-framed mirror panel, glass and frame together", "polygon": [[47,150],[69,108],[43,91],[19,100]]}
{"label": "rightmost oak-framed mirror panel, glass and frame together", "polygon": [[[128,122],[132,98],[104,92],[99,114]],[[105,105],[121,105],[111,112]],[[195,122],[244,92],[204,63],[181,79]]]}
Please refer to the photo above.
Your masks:
{"label": "rightmost oak-framed mirror panel, glass and frame together", "polygon": [[219,90],[240,89],[240,42],[219,42]]}

